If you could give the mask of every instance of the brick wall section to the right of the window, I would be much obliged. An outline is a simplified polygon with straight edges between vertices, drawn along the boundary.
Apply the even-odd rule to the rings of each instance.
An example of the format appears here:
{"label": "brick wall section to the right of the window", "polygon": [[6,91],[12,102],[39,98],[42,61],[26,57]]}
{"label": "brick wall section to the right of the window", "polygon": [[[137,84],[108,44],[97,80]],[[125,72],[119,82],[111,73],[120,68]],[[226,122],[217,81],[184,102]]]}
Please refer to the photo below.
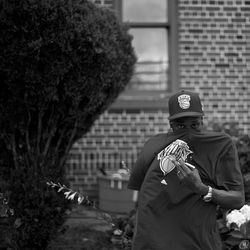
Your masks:
{"label": "brick wall section to the right of the window", "polygon": [[250,132],[250,1],[179,0],[182,88],[200,93],[207,122]]}

